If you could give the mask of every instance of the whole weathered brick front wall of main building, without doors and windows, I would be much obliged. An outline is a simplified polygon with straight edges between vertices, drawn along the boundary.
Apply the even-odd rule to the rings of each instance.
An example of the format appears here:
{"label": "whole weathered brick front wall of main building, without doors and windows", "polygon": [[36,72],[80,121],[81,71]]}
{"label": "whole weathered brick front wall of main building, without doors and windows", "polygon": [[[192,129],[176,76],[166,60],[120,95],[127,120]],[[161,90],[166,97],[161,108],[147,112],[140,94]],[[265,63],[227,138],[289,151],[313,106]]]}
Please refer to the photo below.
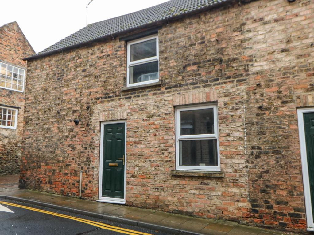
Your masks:
{"label": "whole weathered brick front wall of main building, without doors and windows", "polygon": [[[98,199],[100,122],[127,121],[127,205],[305,231],[296,108],[314,106],[314,3],[234,3],[159,30],[160,85],[122,90],[118,38],[28,64],[20,188]],[[218,104],[224,177],[172,176],[176,105]],[[74,125],[73,119],[80,123]]]}

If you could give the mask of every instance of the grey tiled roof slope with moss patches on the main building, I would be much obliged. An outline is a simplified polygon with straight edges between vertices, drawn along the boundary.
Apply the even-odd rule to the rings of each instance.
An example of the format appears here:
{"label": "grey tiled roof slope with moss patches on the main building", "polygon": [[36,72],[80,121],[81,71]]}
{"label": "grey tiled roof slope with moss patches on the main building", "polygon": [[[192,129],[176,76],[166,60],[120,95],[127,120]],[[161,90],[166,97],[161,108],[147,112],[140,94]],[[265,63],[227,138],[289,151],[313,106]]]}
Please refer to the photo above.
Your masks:
{"label": "grey tiled roof slope with moss patches on the main building", "polygon": [[87,43],[111,34],[122,33],[149,23],[192,13],[227,1],[229,0],[171,0],[137,12],[89,24],[30,58],[50,54],[60,49]]}

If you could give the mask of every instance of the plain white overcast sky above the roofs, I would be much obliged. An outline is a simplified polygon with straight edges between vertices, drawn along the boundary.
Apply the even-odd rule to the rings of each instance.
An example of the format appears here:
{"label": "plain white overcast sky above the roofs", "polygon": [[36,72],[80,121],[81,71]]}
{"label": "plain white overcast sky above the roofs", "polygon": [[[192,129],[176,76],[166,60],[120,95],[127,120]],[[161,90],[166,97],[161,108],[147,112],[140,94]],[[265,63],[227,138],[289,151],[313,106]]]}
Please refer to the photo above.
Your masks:
{"label": "plain white overcast sky above the roofs", "polygon": [[[35,52],[86,26],[87,0],[1,1],[0,26],[16,21]],[[93,0],[87,23],[94,23],[148,8],[167,0]]]}

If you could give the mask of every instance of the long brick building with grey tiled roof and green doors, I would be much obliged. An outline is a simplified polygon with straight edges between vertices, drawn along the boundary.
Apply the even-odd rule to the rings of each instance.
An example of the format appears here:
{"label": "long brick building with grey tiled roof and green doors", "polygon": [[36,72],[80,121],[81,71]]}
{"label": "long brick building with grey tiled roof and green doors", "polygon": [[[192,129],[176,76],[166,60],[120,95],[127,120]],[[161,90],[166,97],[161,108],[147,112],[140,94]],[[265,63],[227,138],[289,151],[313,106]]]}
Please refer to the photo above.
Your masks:
{"label": "long brick building with grey tiled roof and green doors", "polygon": [[172,0],[27,58],[19,187],[78,197],[83,171],[85,199],[311,230],[314,3],[246,2]]}

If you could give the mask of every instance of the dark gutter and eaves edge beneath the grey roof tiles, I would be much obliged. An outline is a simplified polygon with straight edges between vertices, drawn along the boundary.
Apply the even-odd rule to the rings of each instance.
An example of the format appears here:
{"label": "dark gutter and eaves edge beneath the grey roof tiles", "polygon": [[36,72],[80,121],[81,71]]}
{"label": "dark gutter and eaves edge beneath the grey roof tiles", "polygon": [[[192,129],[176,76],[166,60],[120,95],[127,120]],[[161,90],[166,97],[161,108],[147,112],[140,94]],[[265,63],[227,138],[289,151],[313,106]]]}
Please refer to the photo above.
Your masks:
{"label": "dark gutter and eaves edge beneath the grey roof tiles", "polygon": [[[146,28],[146,27],[155,27],[155,26],[160,26],[162,25],[163,23],[168,23],[169,21],[175,21],[177,19],[181,19],[181,18],[184,18],[184,17],[187,17],[189,15],[192,15],[192,14],[195,14],[195,13],[201,13],[201,12],[205,12],[207,10],[211,10],[211,9],[215,9],[215,8],[220,8],[222,6],[225,6],[225,5],[229,5],[230,3],[232,2],[236,2],[236,0],[226,0],[225,2],[222,2],[222,3],[218,3],[218,4],[214,4],[214,5],[209,5],[209,6],[206,6],[204,8],[199,8],[197,10],[194,10],[194,11],[190,11],[190,12],[187,12],[187,13],[182,13],[180,15],[175,15],[175,16],[171,16],[169,18],[165,18],[165,19],[162,19],[162,20],[159,20],[159,21],[155,21],[153,23],[148,23],[148,24],[144,24],[144,25],[141,25],[141,26],[138,26],[138,27],[135,27],[135,28],[130,28],[130,29],[127,29],[127,30],[122,30],[120,32],[117,32],[117,33],[113,33],[111,35],[105,35],[105,36],[102,36],[102,37],[99,37],[99,38],[95,38],[95,39],[92,39],[92,40],[89,40],[89,41],[86,41],[86,42],[82,42],[82,43],[78,43],[78,44],[75,44],[75,45],[71,45],[71,46],[68,46],[68,47],[64,47],[62,49],[56,49],[56,50],[53,50],[53,51],[50,51],[50,52],[46,52],[46,53],[43,53],[43,54],[39,54],[39,55],[33,55],[33,56],[30,56],[30,57],[26,57],[26,58],[23,58],[23,61],[29,61],[31,59],[38,59],[38,58],[41,58],[41,57],[46,57],[48,55],[51,55],[51,54],[56,54],[58,52],[64,52],[64,51],[68,51],[70,49],[73,49],[73,48],[78,48],[78,47],[81,47],[81,46],[86,46],[86,45],[89,45],[89,44],[92,44],[94,42],[98,42],[98,41],[104,41],[108,38],[115,38],[115,37],[118,37],[118,36],[121,36],[123,34],[126,34],[126,33],[130,33],[132,31],[135,31],[135,30],[140,30],[142,28]],[[100,21],[101,22],[101,21]],[[95,22],[97,23],[97,22]],[[93,23],[92,23],[93,24]]]}

